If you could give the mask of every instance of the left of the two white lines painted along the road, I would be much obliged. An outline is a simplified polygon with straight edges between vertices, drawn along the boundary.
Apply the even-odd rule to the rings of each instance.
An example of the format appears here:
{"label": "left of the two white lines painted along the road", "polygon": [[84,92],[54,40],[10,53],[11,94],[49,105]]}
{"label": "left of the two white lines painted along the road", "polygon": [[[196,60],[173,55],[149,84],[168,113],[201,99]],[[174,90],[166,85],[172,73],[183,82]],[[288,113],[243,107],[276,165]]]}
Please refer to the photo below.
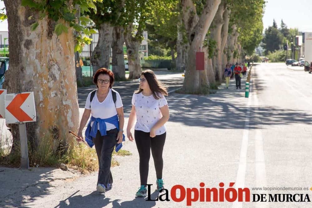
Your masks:
{"label": "left of the two white lines painted along the road", "polygon": [[[248,148],[248,133],[249,133],[249,118],[250,118],[250,106],[251,106],[251,90],[249,92],[247,112],[245,117],[245,127],[243,132],[243,139],[241,141],[241,154],[239,159],[239,166],[237,171],[237,177],[235,182],[236,190],[238,188],[244,188],[245,185],[245,174],[246,174],[246,163],[247,163],[247,148]],[[242,207],[242,202],[238,202],[238,199],[233,202],[232,207]]]}

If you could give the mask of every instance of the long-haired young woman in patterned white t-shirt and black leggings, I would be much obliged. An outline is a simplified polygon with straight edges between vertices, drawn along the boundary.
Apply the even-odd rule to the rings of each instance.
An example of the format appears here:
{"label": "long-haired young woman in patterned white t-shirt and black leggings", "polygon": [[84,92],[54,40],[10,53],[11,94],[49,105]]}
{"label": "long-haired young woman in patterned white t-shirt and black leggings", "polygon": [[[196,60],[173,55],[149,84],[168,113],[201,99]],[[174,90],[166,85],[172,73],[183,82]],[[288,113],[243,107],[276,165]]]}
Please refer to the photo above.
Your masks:
{"label": "long-haired young woman in patterned white t-shirt and black leggings", "polygon": [[[164,95],[167,89],[156,79],[152,70],[145,70],[139,78],[139,89],[132,96],[132,109],[127,126],[127,137],[135,138],[139,152],[139,169],[141,186],[136,196],[147,196],[147,178],[149,174],[149,158],[152,150],[156,170],[157,191],[164,188],[163,183],[163,146],[166,139],[164,124],[169,119],[169,108]],[[130,132],[134,121],[134,138]]]}

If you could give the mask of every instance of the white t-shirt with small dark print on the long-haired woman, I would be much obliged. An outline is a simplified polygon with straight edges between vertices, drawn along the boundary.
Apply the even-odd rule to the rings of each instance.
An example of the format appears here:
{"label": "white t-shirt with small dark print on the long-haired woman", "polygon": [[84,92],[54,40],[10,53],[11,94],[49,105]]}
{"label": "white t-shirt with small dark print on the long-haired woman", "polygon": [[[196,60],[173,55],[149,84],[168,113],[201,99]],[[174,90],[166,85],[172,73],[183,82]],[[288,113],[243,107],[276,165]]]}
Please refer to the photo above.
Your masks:
{"label": "white t-shirt with small dark print on the long-haired woman", "polygon": [[[137,117],[137,122],[134,129],[144,132],[150,132],[151,128],[159,121],[163,116],[160,112],[161,107],[167,105],[166,98],[162,95],[160,99],[155,99],[153,95],[144,96],[141,93],[133,94],[131,103],[135,107],[135,113]],[[156,129],[156,135],[160,135],[166,132],[166,127]]]}

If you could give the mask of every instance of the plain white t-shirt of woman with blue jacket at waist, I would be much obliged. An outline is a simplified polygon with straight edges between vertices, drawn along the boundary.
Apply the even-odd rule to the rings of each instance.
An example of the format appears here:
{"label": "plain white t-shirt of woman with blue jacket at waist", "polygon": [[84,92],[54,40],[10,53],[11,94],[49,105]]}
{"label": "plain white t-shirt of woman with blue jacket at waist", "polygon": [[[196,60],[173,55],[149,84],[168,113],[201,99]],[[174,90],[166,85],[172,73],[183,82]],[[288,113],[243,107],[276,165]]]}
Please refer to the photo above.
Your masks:
{"label": "plain white t-shirt of woman with blue jacket at waist", "polygon": [[[94,118],[100,118],[100,119],[108,119],[110,117],[113,117],[117,114],[116,108],[120,108],[123,106],[120,95],[118,92],[116,92],[116,107],[112,96],[112,90],[110,89],[108,95],[106,96],[105,100],[100,103],[100,101],[97,98],[97,90],[95,91],[94,97],[91,102],[91,108],[90,108],[90,96],[91,93],[89,93],[87,100],[85,102],[85,109],[91,109],[91,115]],[[93,122],[91,122],[92,126]],[[114,124],[106,123],[106,131],[116,128]],[[99,126],[98,126],[99,129]]]}

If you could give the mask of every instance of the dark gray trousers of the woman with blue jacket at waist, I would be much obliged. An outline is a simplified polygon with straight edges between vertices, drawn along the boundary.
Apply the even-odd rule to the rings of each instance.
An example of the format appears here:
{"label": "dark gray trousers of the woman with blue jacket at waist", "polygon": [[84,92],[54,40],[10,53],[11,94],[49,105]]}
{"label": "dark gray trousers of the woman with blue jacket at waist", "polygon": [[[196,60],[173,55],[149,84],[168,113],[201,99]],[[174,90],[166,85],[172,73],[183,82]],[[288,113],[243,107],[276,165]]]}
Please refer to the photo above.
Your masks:
{"label": "dark gray trousers of the woman with blue jacket at waist", "polygon": [[118,140],[117,128],[111,129],[106,132],[105,136],[101,136],[100,131],[96,133],[96,137],[93,138],[96,154],[99,160],[99,175],[98,182],[107,186],[108,183],[113,183],[113,176],[110,172],[110,164],[112,161],[112,153]]}

